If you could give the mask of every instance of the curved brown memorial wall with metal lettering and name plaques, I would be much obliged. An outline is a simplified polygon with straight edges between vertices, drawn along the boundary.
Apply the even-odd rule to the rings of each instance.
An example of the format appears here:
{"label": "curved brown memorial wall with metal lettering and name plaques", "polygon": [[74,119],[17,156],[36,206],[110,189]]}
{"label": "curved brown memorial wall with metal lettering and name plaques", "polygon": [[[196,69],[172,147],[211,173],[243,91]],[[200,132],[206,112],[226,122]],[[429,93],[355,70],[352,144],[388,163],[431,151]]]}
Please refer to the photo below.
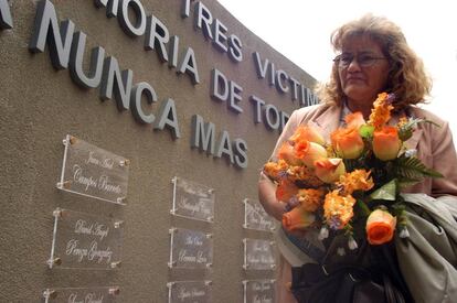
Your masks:
{"label": "curved brown memorial wall with metal lettering and name plaques", "polygon": [[0,0],[0,302],[275,302],[257,177],[313,84],[217,1]]}

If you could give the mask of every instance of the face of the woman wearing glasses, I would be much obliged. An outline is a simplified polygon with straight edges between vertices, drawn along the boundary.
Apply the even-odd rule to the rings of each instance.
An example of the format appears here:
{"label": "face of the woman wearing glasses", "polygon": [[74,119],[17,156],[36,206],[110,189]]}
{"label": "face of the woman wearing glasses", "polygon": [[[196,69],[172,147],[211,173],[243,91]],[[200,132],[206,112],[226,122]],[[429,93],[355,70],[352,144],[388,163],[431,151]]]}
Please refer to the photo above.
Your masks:
{"label": "face of the woman wearing glasses", "polygon": [[341,88],[353,106],[370,106],[385,89],[389,59],[381,46],[366,35],[349,37],[336,62]]}

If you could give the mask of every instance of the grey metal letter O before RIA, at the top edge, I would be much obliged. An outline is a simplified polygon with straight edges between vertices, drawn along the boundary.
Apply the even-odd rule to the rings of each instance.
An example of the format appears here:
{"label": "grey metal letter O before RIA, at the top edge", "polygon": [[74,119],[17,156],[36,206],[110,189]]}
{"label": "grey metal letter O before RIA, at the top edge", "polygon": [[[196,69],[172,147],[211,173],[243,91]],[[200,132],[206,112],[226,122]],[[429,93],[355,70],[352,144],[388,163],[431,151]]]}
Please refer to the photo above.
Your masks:
{"label": "grey metal letter O before RIA, at the top edge", "polygon": [[[137,19],[136,24],[131,24],[128,18],[128,7],[134,10]],[[129,36],[140,36],[146,30],[146,13],[145,9],[138,0],[120,0],[120,15],[117,19],[124,32]]]}

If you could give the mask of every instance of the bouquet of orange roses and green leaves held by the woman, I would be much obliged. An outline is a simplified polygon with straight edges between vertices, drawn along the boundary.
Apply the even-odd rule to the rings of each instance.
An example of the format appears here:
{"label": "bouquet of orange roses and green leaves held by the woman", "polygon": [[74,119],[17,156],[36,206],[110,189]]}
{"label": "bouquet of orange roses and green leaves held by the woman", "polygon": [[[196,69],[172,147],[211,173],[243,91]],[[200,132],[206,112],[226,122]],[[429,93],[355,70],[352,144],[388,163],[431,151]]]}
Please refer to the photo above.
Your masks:
{"label": "bouquet of orange roses and green leaves held by the woman", "polygon": [[283,226],[288,231],[320,229],[371,245],[407,237],[405,202],[400,191],[424,177],[442,177],[407,150],[407,141],[424,119],[403,117],[389,126],[394,96],[382,93],[368,121],[361,112],[346,117],[326,142],[319,131],[300,126],[279,148],[264,173],[277,184],[276,197],[287,203]]}

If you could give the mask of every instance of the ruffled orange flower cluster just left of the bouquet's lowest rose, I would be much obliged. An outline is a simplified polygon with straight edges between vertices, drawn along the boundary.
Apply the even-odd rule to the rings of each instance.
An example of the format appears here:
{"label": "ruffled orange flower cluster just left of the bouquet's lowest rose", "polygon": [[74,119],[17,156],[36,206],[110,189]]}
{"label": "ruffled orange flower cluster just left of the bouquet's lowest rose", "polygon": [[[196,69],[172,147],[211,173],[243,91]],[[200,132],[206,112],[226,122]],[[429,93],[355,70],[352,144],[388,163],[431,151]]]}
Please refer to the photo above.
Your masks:
{"label": "ruffled orange flower cluster just left of the bouquet's lowest rose", "polygon": [[351,195],[340,196],[338,191],[326,195],[323,202],[323,217],[332,229],[343,229],[353,217],[355,199]]}

